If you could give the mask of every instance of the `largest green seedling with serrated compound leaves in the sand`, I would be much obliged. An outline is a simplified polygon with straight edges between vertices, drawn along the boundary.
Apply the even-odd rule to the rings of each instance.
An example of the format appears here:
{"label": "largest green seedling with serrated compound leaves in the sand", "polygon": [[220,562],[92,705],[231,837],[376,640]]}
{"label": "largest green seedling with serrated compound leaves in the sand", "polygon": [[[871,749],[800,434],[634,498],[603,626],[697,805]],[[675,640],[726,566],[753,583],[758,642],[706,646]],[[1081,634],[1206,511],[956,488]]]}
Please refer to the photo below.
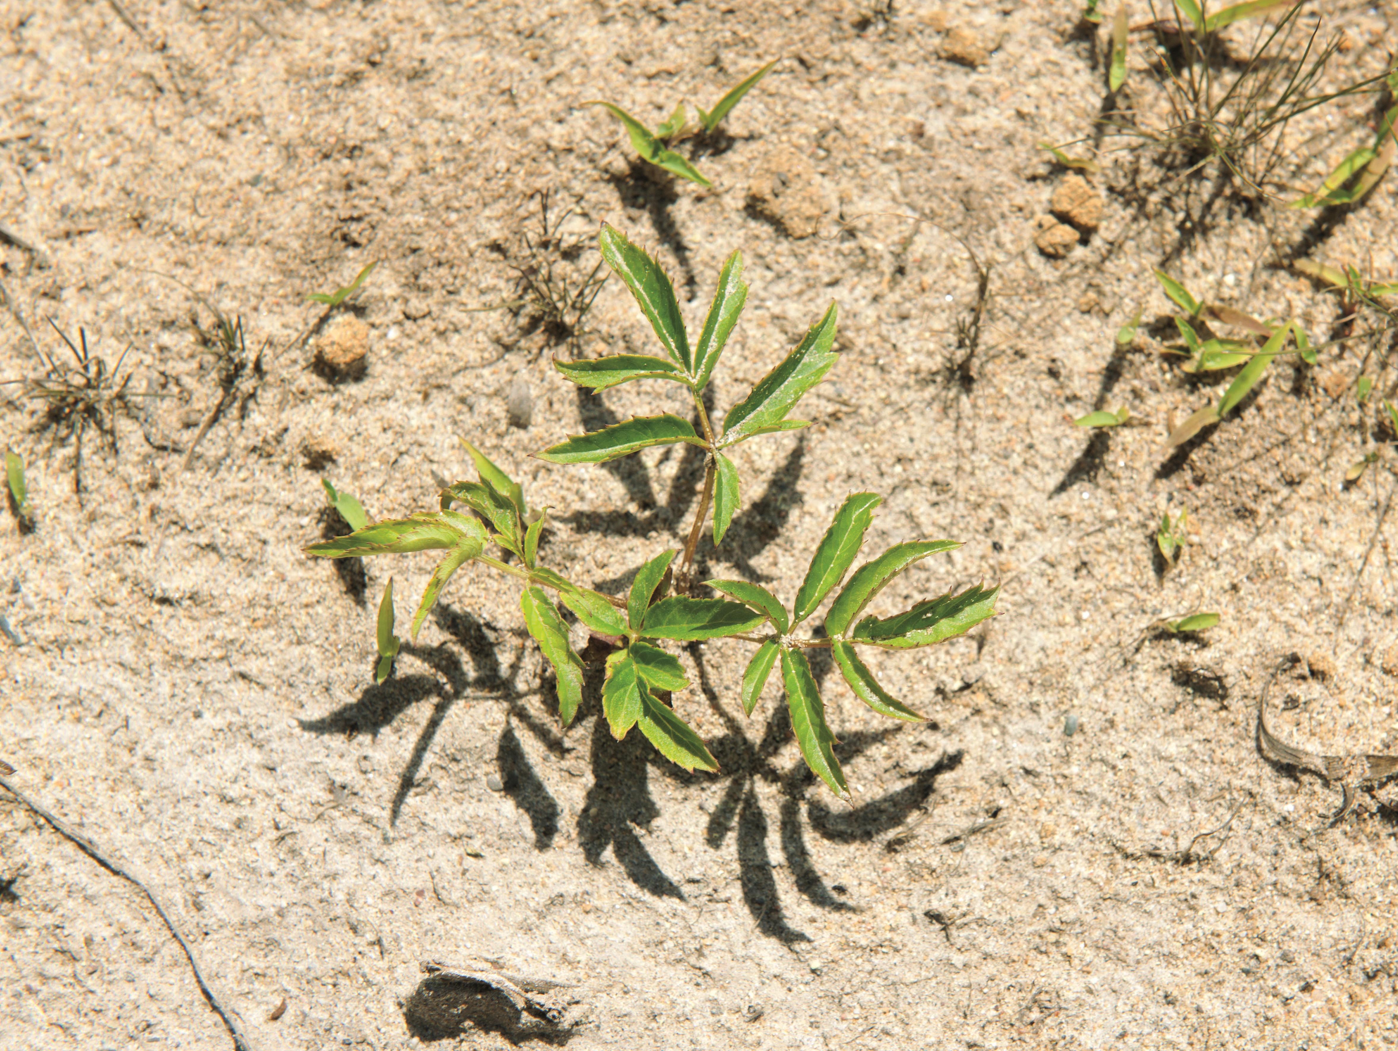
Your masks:
{"label": "largest green seedling with serrated compound leaves in the sand", "polygon": [[[639,727],[661,755],[686,770],[716,770],[717,762],[699,735],[663,699],[668,692],[689,685],[682,665],[664,648],[664,643],[724,637],[754,643],[758,648],[742,676],[744,711],[752,714],[773,668],[780,662],[791,728],[801,755],[836,795],[849,799],[844,774],[833,751],[835,732],[826,723],[825,704],[805,651],[830,650],[846,683],[874,711],[920,721],[921,716],[875,681],[860,658],[858,647],[906,650],[965,635],[994,616],[1000,590],[977,584],[959,594],[946,593],[921,601],[893,616],[868,614],[870,604],[895,577],[931,555],[960,545],[949,539],[896,544],[846,580],[874,510],[881,503],[874,493],[853,493],[836,510],[790,605],[780,602],[768,588],[745,580],[706,581],[726,598],[692,597],[696,584],[693,555],[710,507],[713,542],[717,545],[740,505],[738,468],[726,451],[761,435],[807,426],[805,421],[790,419],[788,414],[837,361],[833,349],[836,309],[832,303],[795,349],[728,409],[719,429],[709,418],[702,393],[747,299],[742,257],[735,252],[724,263],[700,335],[691,344],[674,285],[656,260],[611,226],[603,228],[598,240],[603,259],[630,289],[664,356],[624,354],[556,362],[556,368],[573,383],[591,390],[643,379],[679,384],[689,390],[698,428],[674,414],[633,416],[569,437],[537,457],[554,464],[603,464],[654,446],[691,444],[702,449],[706,460],[703,493],[682,555],[665,551],[642,565],[625,598],[568,580],[541,563],[540,538],[545,516],[531,514],[521,488],[468,443],[466,447],[475,463],[478,481],[461,481],[442,489],[439,510],[380,521],[348,537],[313,544],[308,552],[323,558],[354,558],[429,548],[446,551],[412,618],[412,637],[417,637],[447,580],[461,566],[474,562],[520,580],[524,625],[554,669],[559,717],[568,725],[583,696],[583,658],[573,648],[569,626],[549,595],[549,591],[555,593],[558,601],[590,632],[615,640],[607,657],[607,678],[601,690],[603,714],[612,735],[621,739],[632,727]],[[464,505],[470,513],[453,510],[453,505]],[[488,544],[512,560],[485,553]],[[814,636],[798,633],[800,625],[812,618],[842,581],[843,588],[825,614],[823,630]]]}

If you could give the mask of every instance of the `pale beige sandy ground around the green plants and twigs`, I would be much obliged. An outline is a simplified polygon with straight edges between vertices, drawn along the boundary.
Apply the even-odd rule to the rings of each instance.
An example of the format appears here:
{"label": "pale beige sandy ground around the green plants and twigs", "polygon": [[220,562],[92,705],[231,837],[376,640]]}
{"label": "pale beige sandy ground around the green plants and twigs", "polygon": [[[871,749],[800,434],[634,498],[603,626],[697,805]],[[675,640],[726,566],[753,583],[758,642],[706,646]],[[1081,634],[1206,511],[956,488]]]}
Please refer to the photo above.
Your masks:
{"label": "pale beige sandy ground around the green plants and twigs", "polygon": [[[1254,742],[1264,683],[1299,654],[1274,686],[1279,737],[1398,751],[1394,460],[1355,403],[1360,373],[1391,396],[1392,344],[1276,363],[1172,453],[1169,421],[1232,373],[1160,354],[1172,306],[1151,277],[1332,338],[1336,296],[1276,263],[1392,280],[1392,177],[1314,222],[1107,138],[1100,226],[1050,259],[1035,238],[1065,172],[1036,143],[1090,136],[1104,99],[1078,7],[875,7],[0,3],[0,222],[38,249],[0,243],[0,280],[46,352],[67,354],[46,319],[85,328],[109,368],[129,347],[133,396],[115,450],[82,436],[77,495],[75,436],[0,389],[35,509],[32,532],[0,524],[0,612],[22,642],[0,639],[0,758],[140,874],[260,1051],[418,1045],[419,964],[470,957],[570,983],[551,994],[570,1029],[541,1033],[577,1048],[1398,1041],[1391,790],[1329,827],[1339,787]],[[1325,8],[1346,41],[1334,75],[1381,73],[1394,6]],[[654,123],[773,57],[695,157],[712,190],[640,171],[584,105]],[[1132,61],[1128,89],[1158,106]],[[1288,184],[1363,144],[1373,105],[1289,129]],[[404,618],[428,555],[356,574],[302,553],[333,530],[320,477],[375,517],[431,507],[436,477],[470,477],[457,435],[555,509],[544,549],[579,580],[618,591],[682,545],[692,458],[528,458],[686,411],[658,384],[580,397],[549,366],[566,347],[477,310],[513,295],[541,190],[584,243],[565,266],[586,274],[611,222],[660,253],[695,327],[742,249],[720,412],[840,306],[842,361],[801,414],[815,426],[740,450],[744,509],[700,549],[710,574],[790,598],[830,512],[871,489],[871,549],[965,541],[888,609],[1002,581],[987,629],[875,661],[924,725],[879,720],[816,665],[853,808],[805,771],[774,685],[742,717],[747,644],[681,651],[696,685],[677,709],[723,767],[691,776],[637,734],[614,742],[596,682],[562,732],[517,595],[485,572],[457,576],[375,686],[377,595],[394,574]],[[991,280],[960,376],[967,245]],[[366,326],[366,370],[336,379],[313,362],[327,328],[295,342],[324,313],[303,298],[375,260],[340,312]],[[219,397],[206,303],[267,345],[264,375],[182,470]],[[587,321],[580,354],[650,347],[617,282]],[[39,372],[0,313],[0,379]],[[527,428],[506,411],[520,382]],[[1142,425],[1069,425],[1117,405]],[[1192,542],[1166,567],[1153,532],[1180,507]],[[1195,609],[1222,622],[1151,630]],[[0,1044],[231,1044],[147,900],[8,798],[0,887]],[[533,1038],[439,1045],[512,1036]]]}

